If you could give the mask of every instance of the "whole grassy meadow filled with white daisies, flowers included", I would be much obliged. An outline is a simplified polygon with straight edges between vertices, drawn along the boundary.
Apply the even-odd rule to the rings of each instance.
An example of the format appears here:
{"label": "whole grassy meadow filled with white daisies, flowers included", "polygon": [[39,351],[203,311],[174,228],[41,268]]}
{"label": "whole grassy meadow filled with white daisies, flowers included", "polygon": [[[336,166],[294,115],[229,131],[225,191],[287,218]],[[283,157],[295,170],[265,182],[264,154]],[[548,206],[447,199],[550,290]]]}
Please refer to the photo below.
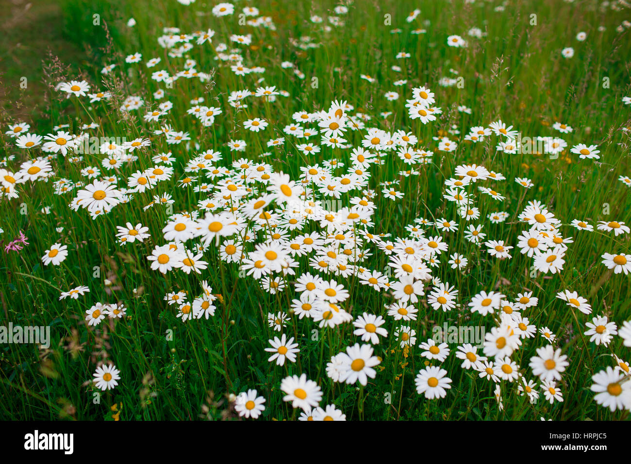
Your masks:
{"label": "whole grassy meadow filled with white daisies, flowers included", "polygon": [[0,418],[628,419],[625,1],[57,4]]}

